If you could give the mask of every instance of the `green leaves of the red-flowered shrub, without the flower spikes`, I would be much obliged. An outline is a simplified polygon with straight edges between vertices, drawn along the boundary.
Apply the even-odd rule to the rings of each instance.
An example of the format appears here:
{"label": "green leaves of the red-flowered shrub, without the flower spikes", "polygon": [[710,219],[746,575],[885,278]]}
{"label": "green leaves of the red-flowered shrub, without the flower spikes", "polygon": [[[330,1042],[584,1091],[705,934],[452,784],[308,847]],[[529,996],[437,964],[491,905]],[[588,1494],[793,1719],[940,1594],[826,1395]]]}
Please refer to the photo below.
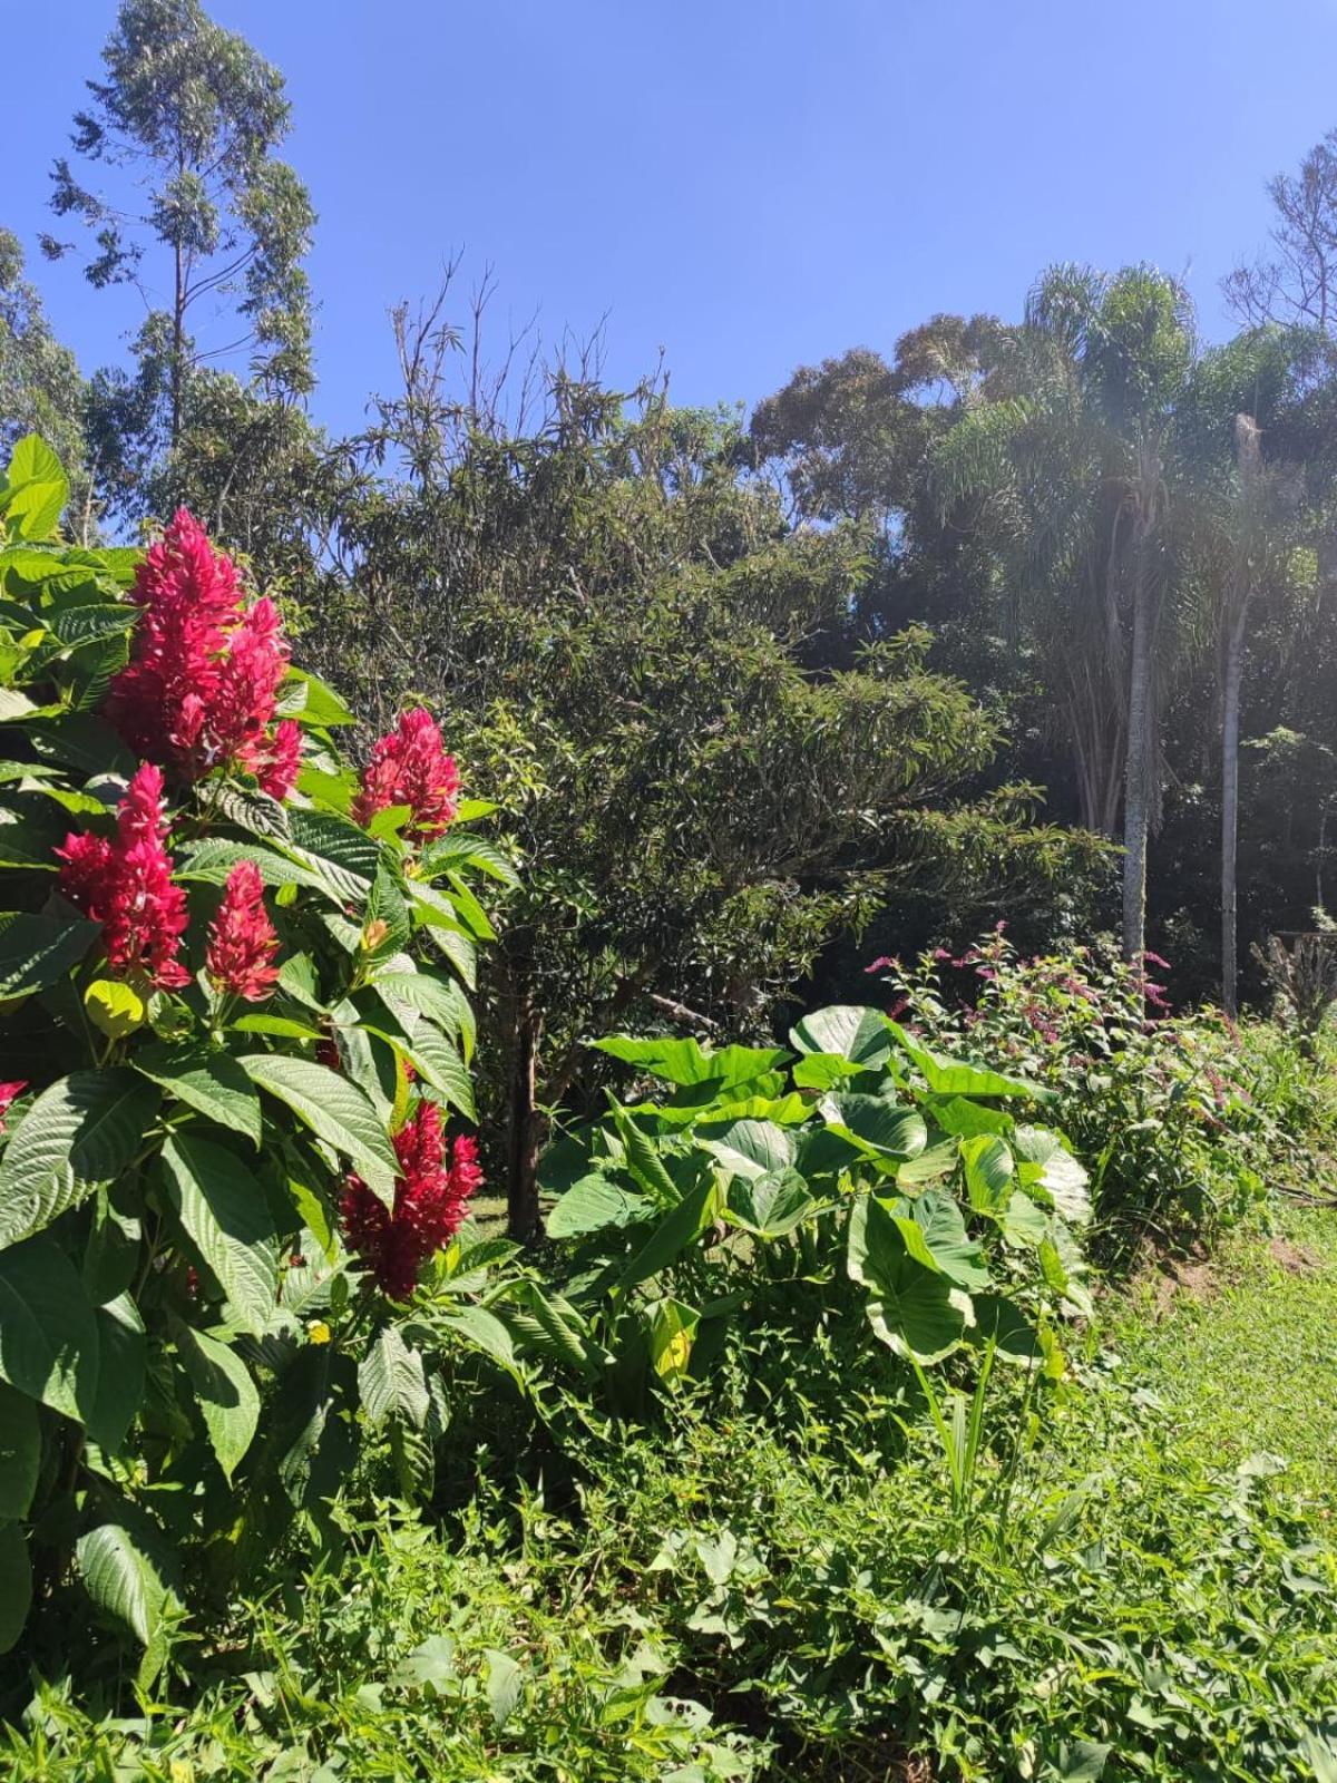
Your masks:
{"label": "green leaves of the red-flowered shrub, without the flower spikes", "polygon": [[[469,1002],[419,938],[487,927],[469,879],[510,867],[458,834],[433,868],[399,834],[406,808],[355,824],[346,713],[289,670],[310,790],[280,804],[223,770],[173,788],[191,975],[164,990],[114,968],[52,874],[70,829],[107,829],[135,765],[98,708],[137,620],[137,553],[61,542],[66,494],[20,440],[0,483],[0,1050],[23,1091],[0,1152],[0,1635],[18,1640],[34,1578],[57,1619],[84,1614],[82,1589],[148,1680],[250,1551],[319,1521],[362,1430],[437,1416],[433,1359],[476,1343],[496,1252],[455,1246],[437,1275],[463,1271],[458,1312],[428,1332],[344,1246],[337,1207],[349,1170],[396,1202],[410,1066],[417,1095],[472,1116]],[[260,1006],[205,970],[241,859],[280,945]]]}

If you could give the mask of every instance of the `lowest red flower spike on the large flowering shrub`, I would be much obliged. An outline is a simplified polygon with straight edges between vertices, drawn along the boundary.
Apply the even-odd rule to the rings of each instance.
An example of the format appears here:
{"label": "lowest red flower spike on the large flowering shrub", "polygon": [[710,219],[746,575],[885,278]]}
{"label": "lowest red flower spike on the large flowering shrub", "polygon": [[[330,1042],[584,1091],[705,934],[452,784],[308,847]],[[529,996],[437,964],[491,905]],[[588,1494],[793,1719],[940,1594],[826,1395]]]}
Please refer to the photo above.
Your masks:
{"label": "lowest red flower spike on the large flowering shrub", "polygon": [[426,1259],[458,1232],[471,1196],[483,1182],[478,1145],[460,1134],[446,1152],[440,1109],[419,1100],[394,1136],[403,1171],[389,1209],[360,1177],[342,1200],[348,1243],[392,1300],[408,1300]]}

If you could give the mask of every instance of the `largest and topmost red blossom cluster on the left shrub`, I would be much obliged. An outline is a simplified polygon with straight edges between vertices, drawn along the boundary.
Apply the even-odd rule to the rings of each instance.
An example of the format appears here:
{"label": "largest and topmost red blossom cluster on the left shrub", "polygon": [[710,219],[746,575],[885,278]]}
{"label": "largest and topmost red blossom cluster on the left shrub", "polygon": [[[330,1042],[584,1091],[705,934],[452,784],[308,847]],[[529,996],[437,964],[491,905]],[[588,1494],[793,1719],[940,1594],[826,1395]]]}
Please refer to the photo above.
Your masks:
{"label": "largest and topmost red blossom cluster on the left shrub", "polygon": [[301,729],[273,722],[289,660],[275,603],[242,604],[235,563],[185,508],[139,565],[134,599],[134,654],[107,694],[121,736],[178,779],[239,768],[285,799]]}

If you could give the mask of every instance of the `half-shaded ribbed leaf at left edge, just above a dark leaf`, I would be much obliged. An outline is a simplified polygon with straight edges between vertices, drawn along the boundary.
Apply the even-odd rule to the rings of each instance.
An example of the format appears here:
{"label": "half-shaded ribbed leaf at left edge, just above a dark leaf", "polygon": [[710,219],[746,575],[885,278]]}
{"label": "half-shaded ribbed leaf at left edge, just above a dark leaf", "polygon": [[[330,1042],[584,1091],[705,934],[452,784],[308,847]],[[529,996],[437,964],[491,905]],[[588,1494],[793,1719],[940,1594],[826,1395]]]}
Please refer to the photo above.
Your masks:
{"label": "half-shaded ribbed leaf at left edge, just above a dark leaf", "polygon": [[111,1182],[153,1125],[159,1091],[134,1072],[73,1072],[43,1089],[0,1161],[0,1248],[41,1232]]}

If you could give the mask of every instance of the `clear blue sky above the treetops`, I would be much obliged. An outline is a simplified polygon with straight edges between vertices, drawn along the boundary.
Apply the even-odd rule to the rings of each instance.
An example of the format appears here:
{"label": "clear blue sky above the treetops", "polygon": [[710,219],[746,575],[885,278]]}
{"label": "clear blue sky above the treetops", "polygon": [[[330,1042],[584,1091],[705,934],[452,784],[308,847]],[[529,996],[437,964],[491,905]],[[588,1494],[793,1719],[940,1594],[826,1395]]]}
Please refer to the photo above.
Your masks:
{"label": "clear blue sky above the treetops", "polygon": [[[754,401],[934,310],[1014,316],[1048,260],[1218,278],[1264,180],[1337,125],[1337,0],[214,0],[289,80],[321,212],[316,412],[392,380],[385,312],[496,269],[497,333],[606,316],[606,373]],[[86,367],[137,300],[34,239],[114,0],[4,7],[0,221]]]}

